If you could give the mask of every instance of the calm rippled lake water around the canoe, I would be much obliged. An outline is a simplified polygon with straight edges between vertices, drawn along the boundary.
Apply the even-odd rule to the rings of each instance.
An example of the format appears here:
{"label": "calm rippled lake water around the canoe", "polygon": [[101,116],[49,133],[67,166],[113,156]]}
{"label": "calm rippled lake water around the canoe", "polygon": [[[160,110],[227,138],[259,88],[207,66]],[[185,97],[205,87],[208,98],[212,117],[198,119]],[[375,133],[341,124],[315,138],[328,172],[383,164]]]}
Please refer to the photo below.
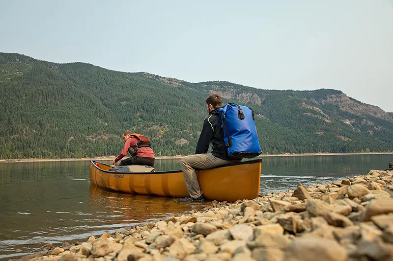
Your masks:
{"label": "calm rippled lake water around the canoe", "polygon": [[[364,175],[390,161],[392,154],[263,157],[260,192]],[[179,159],[156,160],[155,167],[180,169]],[[90,186],[88,178],[88,161],[0,163],[0,260],[211,205],[111,192]]]}

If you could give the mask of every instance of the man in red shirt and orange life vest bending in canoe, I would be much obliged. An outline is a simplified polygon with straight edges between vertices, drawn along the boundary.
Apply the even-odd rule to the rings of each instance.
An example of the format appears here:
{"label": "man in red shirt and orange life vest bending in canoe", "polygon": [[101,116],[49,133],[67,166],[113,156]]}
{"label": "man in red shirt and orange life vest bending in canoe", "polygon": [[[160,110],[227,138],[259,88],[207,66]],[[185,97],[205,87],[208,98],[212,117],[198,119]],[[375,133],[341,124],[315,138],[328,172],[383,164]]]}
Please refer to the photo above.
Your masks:
{"label": "man in red shirt and orange life vest bending in canoe", "polygon": [[129,152],[131,157],[122,160],[118,166],[142,165],[154,167],[154,152],[150,147],[150,141],[146,137],[127,130],[123,133],[123,141],[125,142],[123,150],[112,161],[112,164],[121,160]]}

